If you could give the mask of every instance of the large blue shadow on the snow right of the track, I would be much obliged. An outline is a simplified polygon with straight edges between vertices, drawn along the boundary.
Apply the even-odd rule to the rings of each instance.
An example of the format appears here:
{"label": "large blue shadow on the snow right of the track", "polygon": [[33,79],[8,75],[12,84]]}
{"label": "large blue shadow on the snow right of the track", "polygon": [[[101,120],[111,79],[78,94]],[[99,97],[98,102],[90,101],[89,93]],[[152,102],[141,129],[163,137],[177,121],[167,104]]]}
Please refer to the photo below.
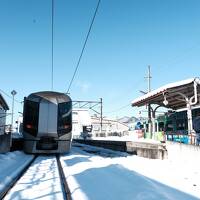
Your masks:
{"label": "large blue shadow on the snow right of the track", "polygon": [[[117,164],[90,168],[74,177],[91,200],[199,199]],[[75,191],[71,191],[72,195]]]}

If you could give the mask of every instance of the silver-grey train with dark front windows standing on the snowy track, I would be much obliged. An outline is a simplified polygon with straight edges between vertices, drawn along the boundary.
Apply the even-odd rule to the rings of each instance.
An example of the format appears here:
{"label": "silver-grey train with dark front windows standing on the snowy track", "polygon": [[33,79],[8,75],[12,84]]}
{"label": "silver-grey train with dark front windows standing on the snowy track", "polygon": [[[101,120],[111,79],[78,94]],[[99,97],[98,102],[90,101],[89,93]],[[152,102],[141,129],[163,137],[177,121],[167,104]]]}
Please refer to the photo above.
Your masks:
{"label": "silver-grey train with dark front windows standing on the snowy track", "polygon": [[72,100],[59,92],[42,91],[24,98],[24,151],[65,153],[71,148]]}

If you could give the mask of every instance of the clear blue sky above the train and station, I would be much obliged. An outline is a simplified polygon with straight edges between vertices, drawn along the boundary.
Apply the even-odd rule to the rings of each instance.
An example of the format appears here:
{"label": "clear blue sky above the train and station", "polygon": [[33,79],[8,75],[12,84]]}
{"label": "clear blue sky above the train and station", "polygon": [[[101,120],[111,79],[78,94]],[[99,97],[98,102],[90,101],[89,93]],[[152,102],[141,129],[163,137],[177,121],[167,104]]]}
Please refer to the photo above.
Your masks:
{"label": "clear blue sky above the train and station", "polygon": [[[56,91],[68,89],[96,4],[55,0]],[[102,97],[104,115],[137,116],[138,109],[120,108],[147,90],[148,65],[152,89],[199,76],[199,10],[199,0],[101,0],[72,99]],[[0,67],[0,89],[15,89],[20,101],[51,89],[51,0],[0,0]]]}

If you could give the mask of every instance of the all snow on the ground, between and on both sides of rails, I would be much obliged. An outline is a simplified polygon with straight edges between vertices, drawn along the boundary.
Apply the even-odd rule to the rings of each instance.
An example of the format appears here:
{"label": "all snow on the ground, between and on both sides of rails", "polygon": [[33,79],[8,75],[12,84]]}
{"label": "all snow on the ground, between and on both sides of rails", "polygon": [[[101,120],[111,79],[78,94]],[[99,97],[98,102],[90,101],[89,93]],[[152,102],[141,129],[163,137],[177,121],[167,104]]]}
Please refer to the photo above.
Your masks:
{"label": "all snow on the ground, between and on both sides of rails", "polygon": [[[75,200],[200,199],[196,147],[191,153],[171,145],[169,158],[157,160],[78,145],[61,156]],[[32,158],[20,151],[0,154],[0,191]],[[6,199],[63,199],[55,158],[39,157],[11,191]]]}

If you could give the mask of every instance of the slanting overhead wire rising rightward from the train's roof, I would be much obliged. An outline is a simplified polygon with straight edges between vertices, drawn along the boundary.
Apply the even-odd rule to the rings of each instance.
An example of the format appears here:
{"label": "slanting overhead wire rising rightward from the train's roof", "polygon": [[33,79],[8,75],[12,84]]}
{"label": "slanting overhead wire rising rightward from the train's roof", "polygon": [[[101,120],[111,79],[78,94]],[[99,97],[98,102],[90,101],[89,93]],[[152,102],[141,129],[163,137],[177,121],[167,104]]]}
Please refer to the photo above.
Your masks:
{"label": "slanting overhead wire rising rightward from the train's roof", "polygon": [[83,52],[84,52],[84,50],[85,50],[85,47],[86,47],[86,44],[87,44],[87,41],[88,41],[88,38],[89,38],[89,35],[90,35],[90,32],[91,32],[92,25],[93,25],[93,23],[94,23],[94,20],[95,20],[95,17],[96,17],[96,14],[97,14],[97,11],[98,11],[100,2],[101,2],[101,0],[99,0],[98,3],[97,3],[97,7],[96,7],[96,9],[95,9],[95,12],[94,12],[94,15],[93,15],[93,18],[92,18],[92,21],[91,21],[91,24],[90,24],[90,27],[89,27],[89,30],[88,30],[86,39],[85,39],[85,42],[84,42],[84,44],[83,44],[83,48],[82,48],[82,50],[81,50],[81,54],[80,54],[80,56],[79,56],[79,59],[78,59],[76,68],[75,68],[75,70],[74,70],[74,74],[73,74],[72,79],[71,79],[71,81],[70,81],[70,84],[69,84],[67,93],[69,93],[69,90],[70,90],[70,88],[71,88],[72,82],[73,82],[73,80],[74,80],[74,78],[75,78],[75,75],[76,75],[76,72],[77,72],[77,70],[78,70],[78,67],[79,67],[81,58],[82,58],[82,56],[83,56]]}

